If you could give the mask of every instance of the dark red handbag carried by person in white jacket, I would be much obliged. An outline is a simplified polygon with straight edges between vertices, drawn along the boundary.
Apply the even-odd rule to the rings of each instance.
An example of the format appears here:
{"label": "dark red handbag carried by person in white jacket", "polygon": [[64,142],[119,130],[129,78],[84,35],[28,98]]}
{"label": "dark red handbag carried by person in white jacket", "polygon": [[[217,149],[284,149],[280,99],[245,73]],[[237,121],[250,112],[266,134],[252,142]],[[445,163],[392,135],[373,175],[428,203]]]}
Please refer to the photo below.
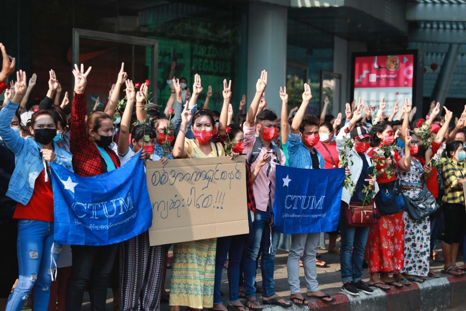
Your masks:
{"label": "dark red handbag carried by person in white jacket", "polygon": [[374,203],[350,202],[345,208],[346,224],[349,227],[370,227],[379,223],[380,215]]}

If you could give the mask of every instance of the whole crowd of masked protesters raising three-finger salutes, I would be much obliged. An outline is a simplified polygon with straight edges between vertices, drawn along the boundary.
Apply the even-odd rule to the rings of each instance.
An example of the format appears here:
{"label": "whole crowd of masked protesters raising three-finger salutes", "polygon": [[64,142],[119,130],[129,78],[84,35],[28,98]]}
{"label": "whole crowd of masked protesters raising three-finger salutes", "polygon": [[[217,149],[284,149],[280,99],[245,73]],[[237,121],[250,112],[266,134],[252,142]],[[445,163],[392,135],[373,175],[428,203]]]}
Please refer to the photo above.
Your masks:
{"label": "whole crowd of masked protesters raising three-finger salutes", "polygon": [[[98,100],[88,112],[85,92],[88,80],[92,83],[90,67],[74,65],[72,101],[68,92],[62,95],[58,77],[50,70],[47,94],[34,102],[30,95],[36,79],[44,77],[33,74],[28,81],[26,72],[16,71],[16,59],[7,55],[5,46],[0,43],[0,48],[1,309],[18,311],[30,305],[34,311],[81,310],[87,291],[92,310],[105,310],[109,287],[115,309],[125,311],[160,310],[164,301],[172,311],[181,306],[260,311],[263,305],[305,305],[311,298],[333,301],[318,287],[320,233],[291,235],[289,299],[275,292],[274,264],[281,236],[273,226],[272,210],[277,165],[345,168],[340,221],[338,229],[329,233],[329,252],[340,255],[342,291],[347,294],[372,294],[374,288],[390,291],[439,277],[430,261],[438,256],[434,250],[440,234],[442,273],[465,274],[465,266],[457,266],[456,259],[459,245],[465,245],[466,106],[454,118],[448,108],[441,111],[440,104],[433,102],[425,118],[414,120],[416,107],[408,99],[401,106],[397,102],[390,116],[385,115],[384,99],[377,107],[359,99],[346,104],[344,115],[334,118],[326,115],[326,98],[316,117],[306,114],[312,94],[304,84],[302,104],[292,109],[286,87],[267,91],[278,93],[273,97],[282,101],[278,117],[266,105],[264,70],[246,113],[245,96],[239,110],[233,111],[232,81],[227,80],[223,105],[212,111],[208,109],[212,88],[205,102],[198,103],[203,91],[200,75],[194,76],[189,88],[188,79],[173,76],[173,63],[165,107],[149,103],[150,81],[135,84],[122,64],[103,108],[99,109]],[[248,210],[249,234],[157,246],[150,246],[148,232],[105,246],[54,242],[49,162],[81,176],[95,176],[118,170],[133,156],[165,163],[237,155],[246,157],[248,200],[247,206],[238,208]],[[357,208],[371,213],[372,223],[351,221],[348,215]],[[335,243],[338,234],[340,249]],[[165,278],[171,247],[168,298]],[[225,306],[220,285],[227,259]],[[365,261],[368,282],[361,279]],[[256,283],[259,265],[262,288]],[[244,304],[241,298],[246,299]]]}

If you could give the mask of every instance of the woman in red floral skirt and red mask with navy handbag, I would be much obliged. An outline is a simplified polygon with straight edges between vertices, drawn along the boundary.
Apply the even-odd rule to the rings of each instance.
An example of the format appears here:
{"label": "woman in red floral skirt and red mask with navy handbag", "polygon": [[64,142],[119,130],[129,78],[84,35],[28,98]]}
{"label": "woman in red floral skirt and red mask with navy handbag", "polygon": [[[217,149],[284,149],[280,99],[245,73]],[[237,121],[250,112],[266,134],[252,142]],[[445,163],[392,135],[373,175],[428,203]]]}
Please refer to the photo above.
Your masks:
{"label": "woman in red floral skirt and red mask with navy handbag", "polygon": [[[411,105],[405,104],[403,111],[405,113],[404,118],[408,119]],[[383,210],[385,208],[383,207],[385,206],[388,206],[391,210],[397,210],[396,195],[394,194],[395,191],[393,191],[396,187],[394,170],[398,168],[409,172],[411,165],[409,149],[411,137],[409,133],[406,135],[405,158],[402,158],[392,148],[395,136],[388,122],[383,121],[375,124],[370,134],[371,149],[368,150],[368,155],[376,163],[377,183],[380,187],[380,191],[376,194],[377,208],[381,214],[384,214]],[[385,195],[386,199],[382,195]],[[388,291],[390,286],[402,287],[409,284],[409,282],[397,277],[404,266],[403,236],[402,212],[381,215],[379,224],[370,227],[365,252],[365,258],[369,261],[370,285]],[[394,276],[390,277],[389,273],[394,273]]]}

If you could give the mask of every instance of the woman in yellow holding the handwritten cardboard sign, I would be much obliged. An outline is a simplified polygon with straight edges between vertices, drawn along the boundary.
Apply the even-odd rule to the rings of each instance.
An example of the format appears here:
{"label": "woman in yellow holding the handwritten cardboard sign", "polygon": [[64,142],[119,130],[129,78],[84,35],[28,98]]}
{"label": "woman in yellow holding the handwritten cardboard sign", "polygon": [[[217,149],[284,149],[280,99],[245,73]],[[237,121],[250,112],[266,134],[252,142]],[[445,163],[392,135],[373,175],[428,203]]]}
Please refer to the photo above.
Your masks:
{"label": "woman in yellow holding the handwritten cardboard sign", "polygon": [[[194,81],[193,96],[197,97],[202,92],[200,75],[196,74]],[[209,110],[198,110],[193,116],[186,105],[181,118],[180,132],[173,148],[174,158],[225,156],[225,150],[220,143],[210,142],[214,136],[215,121]],[[195,139],[185,138],[191,120]],[[189,309],[213,307],[215,254],[216,238],[173,245],[169,300],[171,311],[179,311],[180,306],[187,306]],[[203,260],[183,260],[183,258]]]}

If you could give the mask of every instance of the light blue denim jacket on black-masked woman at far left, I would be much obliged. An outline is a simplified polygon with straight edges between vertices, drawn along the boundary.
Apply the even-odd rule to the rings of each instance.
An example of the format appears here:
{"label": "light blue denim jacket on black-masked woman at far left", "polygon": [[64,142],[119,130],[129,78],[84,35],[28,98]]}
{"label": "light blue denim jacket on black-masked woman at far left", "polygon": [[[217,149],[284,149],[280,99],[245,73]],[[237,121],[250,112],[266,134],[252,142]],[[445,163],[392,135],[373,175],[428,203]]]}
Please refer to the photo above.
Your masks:
{"label": "light blue denim jacket on black-masked woman at far left", "polygon": [[[24,139],[10,127],[18,106],[19,104],[9,101],[0,110],[0,136],[8,149],[15,154],[15,171],[11,175],[6,196],[26,205],[33,195],[35,180],[44,169],[42,155],[39,151],[43,148],[34,138]],[[53,144],[56,156],[52,162],[73,171],[71,154],[59,148],[56,143]]]}

